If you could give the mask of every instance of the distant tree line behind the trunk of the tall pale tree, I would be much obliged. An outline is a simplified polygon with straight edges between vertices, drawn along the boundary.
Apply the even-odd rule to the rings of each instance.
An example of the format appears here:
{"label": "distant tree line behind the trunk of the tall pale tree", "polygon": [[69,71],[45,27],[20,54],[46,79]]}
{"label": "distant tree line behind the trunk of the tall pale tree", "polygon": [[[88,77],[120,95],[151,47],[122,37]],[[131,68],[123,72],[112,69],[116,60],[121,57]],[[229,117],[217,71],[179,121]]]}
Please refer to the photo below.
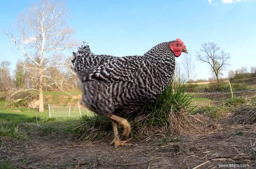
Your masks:
{"label": "distant tree line behind the trunk of the tall pale tree", "polygon": [[[2,61],[0,63],[0,92],[6,92],[10,88],[38,88],[37,71],[35,69],[26,69],[34,66],[29,59],[18,60],[16,63],[16,69],[14,70],[12,76],[10,66],[11,62],[9,61]],[[69,91],[78,89],[78,78],[74,74],[73,70],[71,70],[68,66],[70,67],[70,65],[67,64],[66,67],[52,67],[51,69],[47,70],[45,74],[52,78],[44,78],[44,83],[52,84],[55,83],[55,81],[58,81],[59,83],[53,84],[52,86],[44,86],[43,90],[55,91],[64,89],[64,91]]]}

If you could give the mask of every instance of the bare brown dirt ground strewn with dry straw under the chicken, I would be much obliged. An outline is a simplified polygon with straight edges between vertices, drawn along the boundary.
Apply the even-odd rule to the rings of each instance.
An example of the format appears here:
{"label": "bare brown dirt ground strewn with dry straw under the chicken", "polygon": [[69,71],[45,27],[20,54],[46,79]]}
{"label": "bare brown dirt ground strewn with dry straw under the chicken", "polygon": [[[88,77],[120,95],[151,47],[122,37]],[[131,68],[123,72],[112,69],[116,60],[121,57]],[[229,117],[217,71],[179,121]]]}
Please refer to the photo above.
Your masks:
{"label": "bare brown dirt ground strewn with dry straw under the chicken", "polygon": [[30,141],[5,137],[0,162],[7,157],[21,168],[256,168],[256,123],[246,118],[256,111],[250,111],[227,113],[218,120],[194,115],[193,127],[182,135],[133,139],[133,147],[114,148],[108,145],[111,140],[81,142],[58,135],[35,135]]}

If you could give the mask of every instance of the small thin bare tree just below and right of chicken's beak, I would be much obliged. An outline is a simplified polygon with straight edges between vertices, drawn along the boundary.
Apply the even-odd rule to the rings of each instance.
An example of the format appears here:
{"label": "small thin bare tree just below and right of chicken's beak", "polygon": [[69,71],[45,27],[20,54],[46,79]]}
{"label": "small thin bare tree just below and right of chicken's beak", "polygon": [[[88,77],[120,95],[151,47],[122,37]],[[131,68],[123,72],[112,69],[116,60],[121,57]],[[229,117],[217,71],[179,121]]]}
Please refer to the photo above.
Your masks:
{"label": "small thin bare tree just below and right of chicken's beak", "polygon": [[182,66],[185,69],[186,76],[187,76],[186,80],[188,80],[188,86],[189,86],[191,78],[194,77],[194,63],[191,60],[191,56],[187,54],[182,58],[183,58]]}

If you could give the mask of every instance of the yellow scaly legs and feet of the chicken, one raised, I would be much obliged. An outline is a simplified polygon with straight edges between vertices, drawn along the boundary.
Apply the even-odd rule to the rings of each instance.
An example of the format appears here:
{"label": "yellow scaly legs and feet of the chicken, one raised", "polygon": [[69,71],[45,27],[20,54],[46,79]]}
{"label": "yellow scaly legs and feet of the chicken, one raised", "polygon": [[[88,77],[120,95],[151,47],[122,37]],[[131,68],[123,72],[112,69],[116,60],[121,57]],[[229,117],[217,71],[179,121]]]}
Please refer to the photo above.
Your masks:
{"label": "yellow scaly legs and feet of the chicken, one raised", "polygon": [[[116,115],[111,115],[111,123],[113,126],[113,130],[114,130],[114,139],[110,142],[110,145],[114,144],[115,147],[122,145],[122,146],[133,146],[133,144],[127,143],[128,141],[132,140],[132,138],[121,141],[119,138],[119,134],[118,134],[118,130],[117,130],[117,123],[122,125],[124,128],[124,136],[128,137],[131,131],[131,127],[129,122],[122,118],[122,117],[118,117]],[[114,122],[113,120],[115,120],[116,122]]]}

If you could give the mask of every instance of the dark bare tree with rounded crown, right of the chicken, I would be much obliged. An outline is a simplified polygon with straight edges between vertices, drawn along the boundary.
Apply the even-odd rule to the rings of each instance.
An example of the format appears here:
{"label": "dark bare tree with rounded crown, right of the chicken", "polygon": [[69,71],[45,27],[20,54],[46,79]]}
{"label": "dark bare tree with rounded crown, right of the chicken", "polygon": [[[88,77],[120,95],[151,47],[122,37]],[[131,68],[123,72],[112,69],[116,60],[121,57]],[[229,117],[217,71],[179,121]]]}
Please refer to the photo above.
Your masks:
{"label": "dark bare tree with rounded crown, right of the chicken", "polygon": [[212,42],[203,43],[202,48],[197,52],[197,59],[209,64],[210,70],[214,74],[219,83],[219,76],[222,75],[222,70],[228,64],[230,59],[229,53],[220,51],[220,48]]}

